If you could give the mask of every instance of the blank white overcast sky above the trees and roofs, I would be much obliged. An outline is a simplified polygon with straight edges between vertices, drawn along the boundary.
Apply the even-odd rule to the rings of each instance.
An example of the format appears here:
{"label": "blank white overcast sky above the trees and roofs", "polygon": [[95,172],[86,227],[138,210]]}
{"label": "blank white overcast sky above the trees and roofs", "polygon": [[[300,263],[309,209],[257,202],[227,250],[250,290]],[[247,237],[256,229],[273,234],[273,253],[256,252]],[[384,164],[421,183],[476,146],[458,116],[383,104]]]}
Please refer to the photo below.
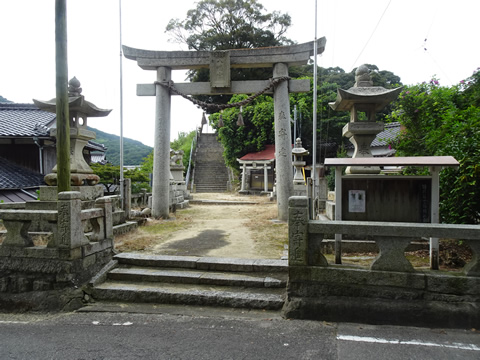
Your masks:
{"label": "blank white overcast sky above the trees and roofs", "polygon": [[[290,14],[287,37],[298,43],[314,39],[315,0],[260,3],[268,12]],[[319,66],[349,72],[369,63],[394,72],[404,84],[436,75],[442,85],[457,84],[480,66],[478,0],[317,0],[317,4],[317,37],[327,38]],[[123,0],[123,44],[187,50],[169,43],[164,31],[170,19],[184,19],[194,7],[192,0]],[[89,125],[119,135],[119,2],[67,0],[67,10],[69,78],[80,80],[87,100],[113,109],[106,118],[90,119]],[[18,103],[55,97],[55,1],[2,0],[0,34],[0,95]],[[173,80],[183,82],[185,74],[174,71]],[[150,146],[155,102],[153,97],[137,97],[136,84],[153,81],[155,72],[123,59],[123,134]],[[200,125],[201,111],[174,96],[171,119],[173,140],[178,132]]]}

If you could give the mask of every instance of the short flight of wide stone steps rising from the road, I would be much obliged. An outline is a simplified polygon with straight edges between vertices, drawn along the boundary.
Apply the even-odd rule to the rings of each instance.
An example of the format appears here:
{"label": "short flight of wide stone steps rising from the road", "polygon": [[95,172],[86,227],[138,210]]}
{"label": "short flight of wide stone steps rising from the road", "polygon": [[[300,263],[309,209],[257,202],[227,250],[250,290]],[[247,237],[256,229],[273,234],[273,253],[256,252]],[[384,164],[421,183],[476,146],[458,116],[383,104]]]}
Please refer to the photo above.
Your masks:
{"label": "short flight of wide stone steps rising from the road", "polygon": [[92,280],[89,292],[97,302],[279,310],[286,281],[284,260],[122,253]]}

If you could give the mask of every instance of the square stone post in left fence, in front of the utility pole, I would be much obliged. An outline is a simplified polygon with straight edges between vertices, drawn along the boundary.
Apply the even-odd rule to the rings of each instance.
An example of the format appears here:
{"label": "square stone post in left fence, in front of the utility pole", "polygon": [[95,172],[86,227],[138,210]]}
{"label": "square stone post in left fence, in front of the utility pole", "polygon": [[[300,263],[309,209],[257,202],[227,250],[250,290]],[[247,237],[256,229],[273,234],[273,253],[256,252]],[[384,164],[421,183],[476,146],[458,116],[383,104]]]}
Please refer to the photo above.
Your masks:
{"label": "square stone post in left fence, in front of the utility pole", "polygon": [[82,202],[80,192],[64,191],[58,194],[58,222],[55,241],[49,246],[75,249],[88,244],[81,220]]}

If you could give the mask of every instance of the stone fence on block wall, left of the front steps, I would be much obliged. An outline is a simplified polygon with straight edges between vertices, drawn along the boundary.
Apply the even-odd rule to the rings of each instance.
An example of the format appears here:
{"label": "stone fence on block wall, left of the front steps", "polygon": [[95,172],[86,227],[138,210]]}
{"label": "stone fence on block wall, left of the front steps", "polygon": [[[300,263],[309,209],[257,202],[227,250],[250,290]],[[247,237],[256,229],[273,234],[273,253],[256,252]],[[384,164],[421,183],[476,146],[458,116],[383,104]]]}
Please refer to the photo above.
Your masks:
{"label": "stone fence on block wall, left of the front steps", "polygon": [[[2,209],[0,219],[6,228],[0,245],[2,308],[9,302],[19,304],[6,294],[79,287],[111,260],[111,198],[98,198],[91,208],[82,209],[80,192],[62,192],[56,209]],[[39,234],[43,245],[32,239]],[[25,309],[52,307],[30,301],[28,296],[23,299]]]}

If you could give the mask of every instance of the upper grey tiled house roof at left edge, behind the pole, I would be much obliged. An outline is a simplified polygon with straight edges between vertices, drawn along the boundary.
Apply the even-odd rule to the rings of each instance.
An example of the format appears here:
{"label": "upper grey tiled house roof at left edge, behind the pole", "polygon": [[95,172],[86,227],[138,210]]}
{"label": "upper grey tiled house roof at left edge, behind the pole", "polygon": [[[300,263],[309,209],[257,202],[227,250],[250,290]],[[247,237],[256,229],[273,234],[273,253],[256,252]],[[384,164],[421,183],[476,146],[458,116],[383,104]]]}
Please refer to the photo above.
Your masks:
{"label": "upper grey tiled house roof at left edge, behind the pole", "polygon": [[0,103],[0,137],[49,136],[55,117],[33,104]]}

